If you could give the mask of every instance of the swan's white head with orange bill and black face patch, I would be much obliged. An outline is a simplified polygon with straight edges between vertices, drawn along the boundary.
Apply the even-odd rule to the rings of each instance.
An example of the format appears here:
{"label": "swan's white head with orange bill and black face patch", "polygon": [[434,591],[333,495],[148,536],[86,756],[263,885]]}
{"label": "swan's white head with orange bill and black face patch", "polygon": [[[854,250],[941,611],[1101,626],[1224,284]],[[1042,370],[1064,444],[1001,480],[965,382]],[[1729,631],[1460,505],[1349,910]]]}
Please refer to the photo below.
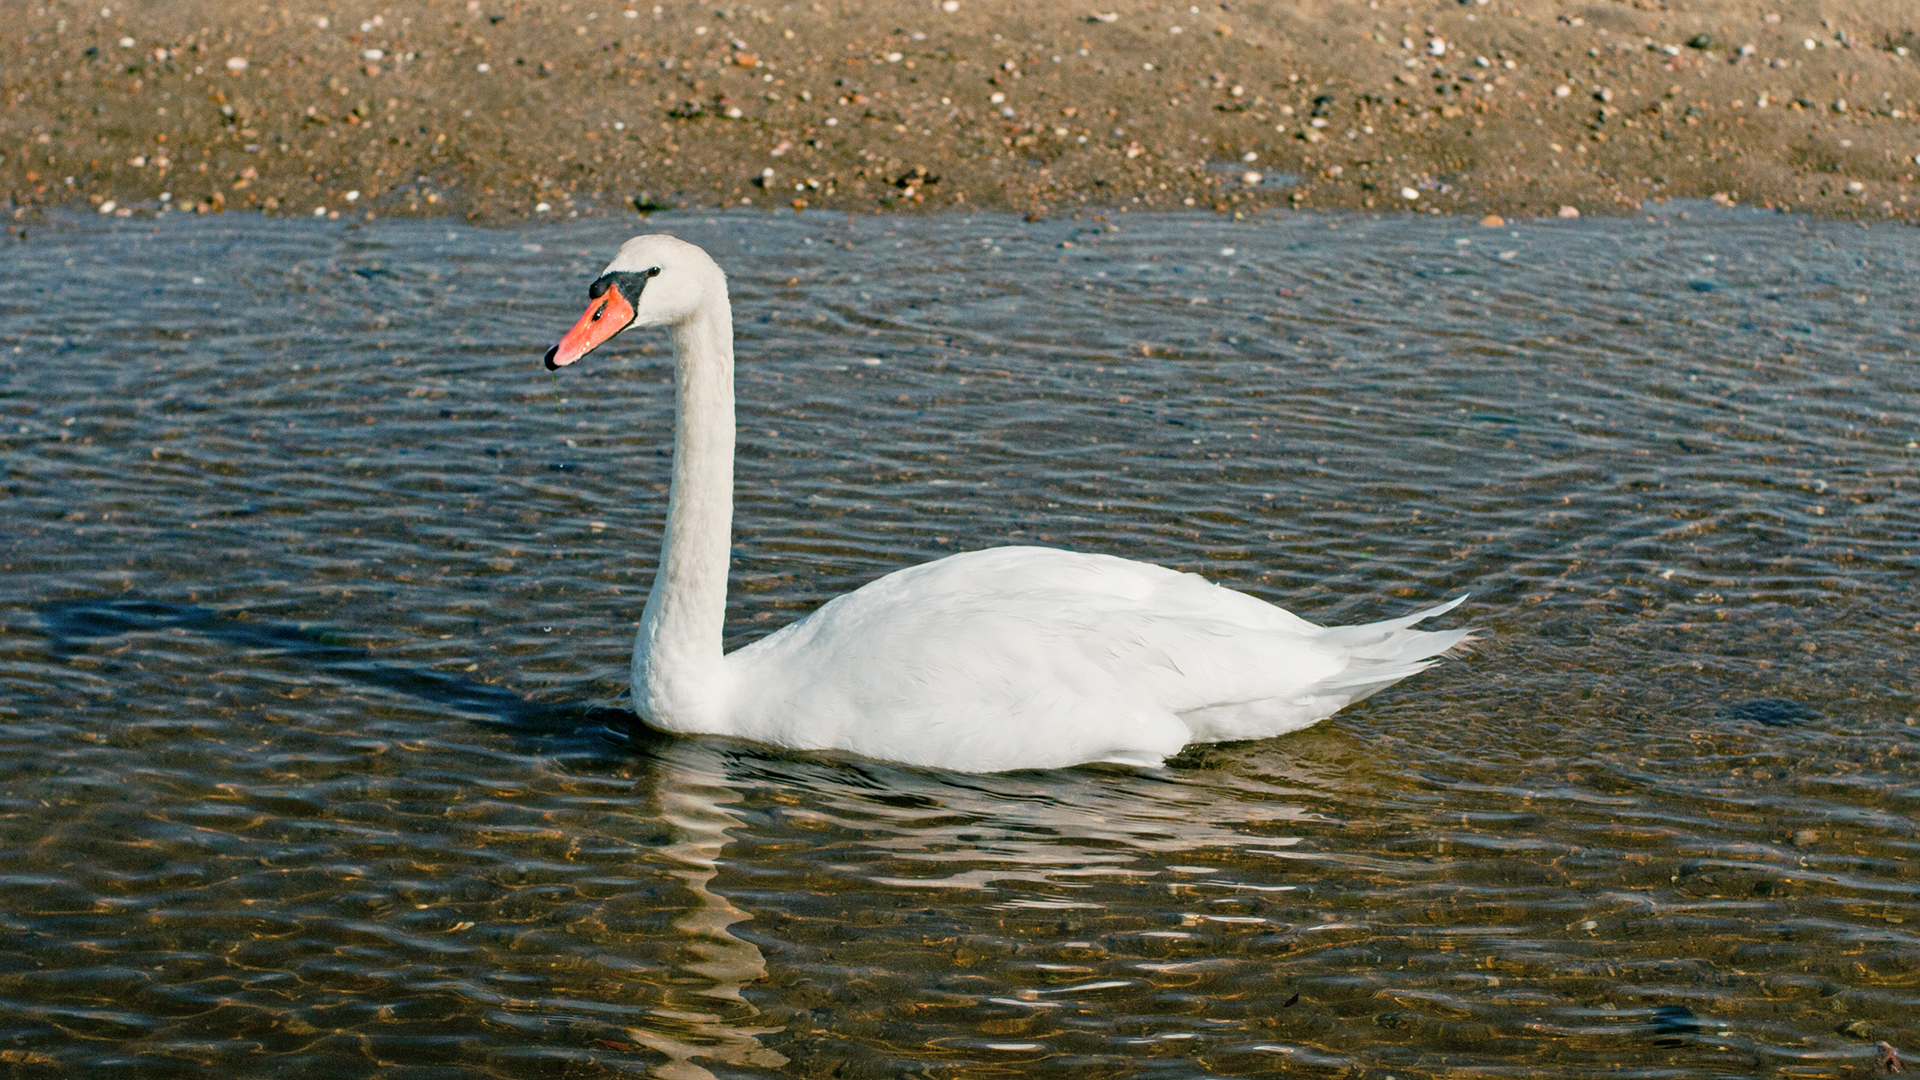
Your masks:
{"label": "swan's white head with orange bill and black face patch", "polygon": [[588,286],[588,311],[547,350],[547,371],[566,367],[628,327],[676,327],[726,296],[720,263],[685,240],[655,233],[620,244]]}

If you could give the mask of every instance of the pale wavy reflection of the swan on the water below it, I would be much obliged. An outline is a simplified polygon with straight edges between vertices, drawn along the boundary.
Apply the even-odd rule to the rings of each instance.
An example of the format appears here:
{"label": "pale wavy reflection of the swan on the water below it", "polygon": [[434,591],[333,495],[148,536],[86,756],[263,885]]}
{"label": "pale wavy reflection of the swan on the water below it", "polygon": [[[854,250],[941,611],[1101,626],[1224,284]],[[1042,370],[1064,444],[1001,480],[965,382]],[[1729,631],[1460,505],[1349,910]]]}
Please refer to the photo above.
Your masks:
{"label": "pale wavy reflection of the swan on the water below it", "polygon": [[[1346,742],[1332,732],[1306,738]],[[755,892],[778,894],[787,907],[780,915],[801,924],[806,915],[837,922],[864,896],[885,897],[893,909],[941,909],[987,930],[1020,909],[1104,909],[1116,890],[1137,892],[1169,872],[1181,886],[1206,884],[1185,863],[1254,855],[1271,865],[1283,855],[1275,847],[1292,842],[1281,836],[1292,822],[1325,821],[1304,801],[1340,786],[1306,774],[1292,755],[1258,748],[1236,753],[1231,778],[1210,769],[1142,774],[1114,767],[950,774],[716,738],[653,738],[637,749],[651,784],[647,813],[674,830],[659,849],[664,869],[691,896],[672,920],[685,938],[674,978],[628,1030],[634,1043],[668,1057],[655,1067],[668,1080],[710,1076],[703,1061],[762,1068],[787,1061],[760,1038],[783,1028],[743,990],[766,980],[760,995],[774,997],[795,972],[768,978],[760,949],[735,932],[755,913],[726,897],[720,874],[730,863],[751,863]],[[724,857],[730,844],[732,859]],[[795,942],[793,949],[803,955],[820,944]],[[989,976],[981,1003],[1052,990],[1020,986],[1014,970],[1002,976]],[[918,972],[908,982],[941,978]]]}

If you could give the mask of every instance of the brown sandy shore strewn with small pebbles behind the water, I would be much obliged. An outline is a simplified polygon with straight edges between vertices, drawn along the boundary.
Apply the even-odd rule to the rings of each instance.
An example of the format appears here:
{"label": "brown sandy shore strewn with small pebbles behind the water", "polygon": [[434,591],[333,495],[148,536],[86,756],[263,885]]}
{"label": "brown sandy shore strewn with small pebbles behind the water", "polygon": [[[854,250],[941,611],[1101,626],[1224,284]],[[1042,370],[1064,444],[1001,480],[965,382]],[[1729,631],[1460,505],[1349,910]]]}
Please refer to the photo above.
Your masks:
{"label": "brown sandy shore strewn with small pebbles behind the water", "polygon": [[109,204],[1605,215],[1676,196],[1920,211],[1910,0],[10,12],[15,219]]}

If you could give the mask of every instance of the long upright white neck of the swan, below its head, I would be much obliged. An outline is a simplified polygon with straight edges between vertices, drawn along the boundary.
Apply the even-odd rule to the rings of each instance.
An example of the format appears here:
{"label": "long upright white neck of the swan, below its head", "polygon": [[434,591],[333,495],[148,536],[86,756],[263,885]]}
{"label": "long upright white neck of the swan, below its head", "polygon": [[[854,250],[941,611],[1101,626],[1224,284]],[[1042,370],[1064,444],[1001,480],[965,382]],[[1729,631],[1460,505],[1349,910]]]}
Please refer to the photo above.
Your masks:
{"label": "long upright white neck of the swan, below its head", "polygon": [[718,732],[720,628],[733,528],[733,311],[726,294],[674,327],[674,484],[634,642],[634,707],[653,726]]}

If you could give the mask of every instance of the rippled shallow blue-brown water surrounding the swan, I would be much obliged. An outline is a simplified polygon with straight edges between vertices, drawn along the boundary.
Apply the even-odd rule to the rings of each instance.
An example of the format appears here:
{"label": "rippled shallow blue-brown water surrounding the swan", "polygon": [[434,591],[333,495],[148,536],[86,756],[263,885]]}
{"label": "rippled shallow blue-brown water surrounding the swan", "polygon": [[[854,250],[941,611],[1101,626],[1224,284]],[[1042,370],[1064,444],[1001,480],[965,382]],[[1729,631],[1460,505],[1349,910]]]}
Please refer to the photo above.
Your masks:
{"label": "rippled shallow blue-brown water surrounding the swan", "polygon": [[1916,233],[655,227],[735,288],[735,644],[1004,542],[1321,621],[1473,592],[1484,638],[1156,773],[622,746],[668,356],[540,356],[624,227],[31,229],[8,1068],[1862,1076],[1910,1045]]}

